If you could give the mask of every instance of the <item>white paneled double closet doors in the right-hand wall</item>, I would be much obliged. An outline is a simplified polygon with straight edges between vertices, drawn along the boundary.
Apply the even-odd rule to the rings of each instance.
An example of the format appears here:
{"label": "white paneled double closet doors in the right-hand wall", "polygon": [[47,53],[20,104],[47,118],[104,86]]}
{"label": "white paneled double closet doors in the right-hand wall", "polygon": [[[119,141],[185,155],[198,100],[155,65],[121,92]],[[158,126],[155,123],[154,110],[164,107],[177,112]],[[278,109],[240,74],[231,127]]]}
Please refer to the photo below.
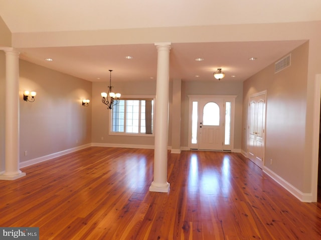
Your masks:
{"label": "white paneled double closet doors in the right-hand wall", "polygon": [[249,98],[248,158],[259,167],[264,161],[266,93]]}

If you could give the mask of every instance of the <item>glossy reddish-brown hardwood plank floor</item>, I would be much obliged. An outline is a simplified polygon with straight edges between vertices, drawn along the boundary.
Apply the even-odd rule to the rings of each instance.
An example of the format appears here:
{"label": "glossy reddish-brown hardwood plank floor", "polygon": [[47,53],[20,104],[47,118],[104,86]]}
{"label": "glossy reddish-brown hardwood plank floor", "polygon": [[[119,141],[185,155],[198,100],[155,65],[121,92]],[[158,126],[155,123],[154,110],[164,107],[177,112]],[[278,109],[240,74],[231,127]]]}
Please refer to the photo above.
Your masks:
{"label": "glossy reddish-brown hardwood plank floor", "polygon": [[40,239],[321,239],[300,202],[239,153],[168,155],[169,193],[149,192],[153,150],[88,147],[0,181],[0,226]]}

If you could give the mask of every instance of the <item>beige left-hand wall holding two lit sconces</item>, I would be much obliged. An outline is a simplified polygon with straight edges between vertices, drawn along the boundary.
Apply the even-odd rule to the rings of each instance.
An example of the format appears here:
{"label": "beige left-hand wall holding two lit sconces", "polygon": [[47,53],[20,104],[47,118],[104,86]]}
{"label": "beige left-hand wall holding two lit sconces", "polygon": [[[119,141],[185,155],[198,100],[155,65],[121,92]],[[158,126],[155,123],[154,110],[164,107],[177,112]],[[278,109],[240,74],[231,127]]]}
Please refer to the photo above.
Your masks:
{"label": "beige left-hand wall holding two lit sconces", "polygon": [[[20,161],[91,143],[91,104],[81,104],[91,99],[91,82],[24,60],[19,64]],[[22,99],[24,90],[37,92],[35,102]]]}

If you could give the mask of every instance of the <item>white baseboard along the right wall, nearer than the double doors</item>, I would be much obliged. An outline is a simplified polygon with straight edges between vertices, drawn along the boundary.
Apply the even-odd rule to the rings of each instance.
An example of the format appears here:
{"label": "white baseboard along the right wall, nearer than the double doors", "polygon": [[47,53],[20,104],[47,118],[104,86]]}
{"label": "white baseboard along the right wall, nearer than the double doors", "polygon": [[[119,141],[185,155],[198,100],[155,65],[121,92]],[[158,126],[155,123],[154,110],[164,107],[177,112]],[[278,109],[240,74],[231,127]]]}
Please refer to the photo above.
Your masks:
{"label": "white baseboard along the right wall, nearer than the double doors", "polygon": [[266,166],[263,166],[263,171],[273,178],[277,183],[279,183],[282,187],[284,187],[287,191],[289,191],[293,196],[303,202],[312,202],[312,193],[304,193],[299,189],[291,185],[289,182],[284,180],[282,177],[277,175],[274,171],[269,169]]}

